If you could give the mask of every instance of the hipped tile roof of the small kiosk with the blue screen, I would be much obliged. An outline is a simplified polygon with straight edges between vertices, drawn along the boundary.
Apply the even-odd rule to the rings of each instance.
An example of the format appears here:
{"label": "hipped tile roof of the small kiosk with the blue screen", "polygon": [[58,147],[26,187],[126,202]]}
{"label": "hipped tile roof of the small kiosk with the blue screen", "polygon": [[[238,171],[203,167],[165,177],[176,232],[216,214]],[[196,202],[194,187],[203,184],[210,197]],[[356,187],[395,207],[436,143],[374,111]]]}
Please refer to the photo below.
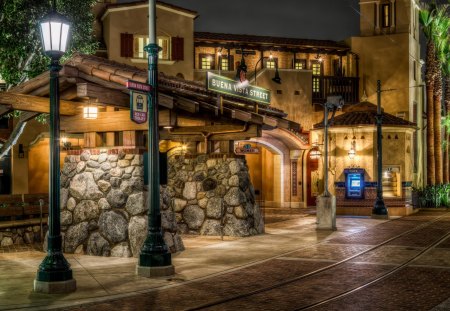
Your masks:
{"label": "hipped tile roof of the small kiosk with the blue screen", "polygon": [[[416,124],[398,118],[384,111],[383,126],[416,127]],[[333,124],[330,127],[355,127],[376,125],[377,106],[362,102],[351,107],[346,113],[334,117]],[[314,124],[314,128],[323,128],[323,123]]]}

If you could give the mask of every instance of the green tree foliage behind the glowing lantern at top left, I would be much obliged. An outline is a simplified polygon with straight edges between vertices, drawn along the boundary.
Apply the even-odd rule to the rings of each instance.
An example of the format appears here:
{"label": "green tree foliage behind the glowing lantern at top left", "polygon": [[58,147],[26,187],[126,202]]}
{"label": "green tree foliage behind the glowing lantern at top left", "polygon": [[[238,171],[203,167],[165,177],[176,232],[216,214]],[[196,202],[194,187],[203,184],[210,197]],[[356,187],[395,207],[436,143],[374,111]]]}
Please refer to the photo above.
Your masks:
{"label": "green tree foliage behind the glowing lantern at top left", "polygon": [[[95,0],[57,0],[57,11],[72,23],[71,49],[92,54],[97,48],[93,36]],[[42,54],[39,20],[51,11],[48,0],[0,1],[0,76],[8,88],[31,79],[47,69]]]}

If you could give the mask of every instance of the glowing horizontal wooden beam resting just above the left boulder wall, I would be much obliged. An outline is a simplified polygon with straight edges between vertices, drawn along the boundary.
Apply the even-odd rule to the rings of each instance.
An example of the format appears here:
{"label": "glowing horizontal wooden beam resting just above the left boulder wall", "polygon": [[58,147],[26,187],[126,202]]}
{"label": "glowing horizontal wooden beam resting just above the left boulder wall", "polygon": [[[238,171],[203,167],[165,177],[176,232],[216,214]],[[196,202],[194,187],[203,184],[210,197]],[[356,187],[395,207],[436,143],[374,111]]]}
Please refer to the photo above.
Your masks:
{"label": "glowing horizontal wooden beam resting just above the left boulder wall", "polygon": [[[170,110],[159,111],[159,125],[170,124]],[[148,124],[137,124],[130,120],[130,111],[99,112],[95,120],[86,120],[81,114],[61,118],[61,130],[67,133],[86,132],[121,132],[121,131],[145,131]]]}

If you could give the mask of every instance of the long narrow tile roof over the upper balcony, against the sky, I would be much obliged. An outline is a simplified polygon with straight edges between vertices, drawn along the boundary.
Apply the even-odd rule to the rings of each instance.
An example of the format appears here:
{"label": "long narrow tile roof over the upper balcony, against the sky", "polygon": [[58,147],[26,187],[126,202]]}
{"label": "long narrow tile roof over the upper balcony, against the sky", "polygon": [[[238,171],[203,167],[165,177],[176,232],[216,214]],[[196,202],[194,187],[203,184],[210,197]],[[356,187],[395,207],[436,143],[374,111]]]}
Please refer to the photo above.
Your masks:
{"label": "long narrow tile roof over the upper balcony, against the sky", "polygon": [[247,34],[226,34],[213,32],[194,32],[195,41],[228,41],[242,42],[260,45],[283,45],[311,48],[331,48],[340,50],[350,50],[350,47],[341,42],[332,40],[282,38],[271,36],[255,36]]}

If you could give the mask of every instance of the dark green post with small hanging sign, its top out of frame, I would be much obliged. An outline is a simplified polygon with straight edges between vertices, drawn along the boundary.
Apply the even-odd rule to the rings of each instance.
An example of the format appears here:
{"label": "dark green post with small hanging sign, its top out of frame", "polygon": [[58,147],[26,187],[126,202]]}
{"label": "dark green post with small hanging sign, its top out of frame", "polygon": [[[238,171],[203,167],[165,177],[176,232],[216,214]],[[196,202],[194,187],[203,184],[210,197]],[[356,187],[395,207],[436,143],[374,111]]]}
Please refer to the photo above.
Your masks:
{"label": "dark green post with small hanging sign, its top out of frame", "polygon": [[156,1],[148,2],[149,44],[148,53],[148,234],[139,254],[136,273],[143,277],[168,276],[175,273],[172,256],[161,231],[161,209],[159,202],[159,139],[158,139],[158,52],[156,44]]}

